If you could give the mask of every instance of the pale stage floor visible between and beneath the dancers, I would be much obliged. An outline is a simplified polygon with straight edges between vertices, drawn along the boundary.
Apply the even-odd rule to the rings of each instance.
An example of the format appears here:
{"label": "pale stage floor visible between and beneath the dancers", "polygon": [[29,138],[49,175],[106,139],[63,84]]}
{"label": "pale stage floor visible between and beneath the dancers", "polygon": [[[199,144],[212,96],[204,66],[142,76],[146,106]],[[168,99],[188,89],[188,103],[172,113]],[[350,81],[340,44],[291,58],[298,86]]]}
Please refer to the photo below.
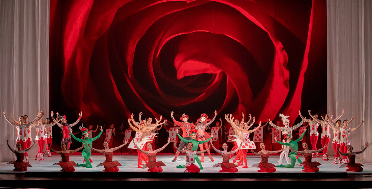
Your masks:
{"label": "pale stage floor visible between and beneath the dancers", "polygon": [[[184,168],[176,168],[179,164],[185,165],[186,157],[184,154],[180,154],[177,158],[177,161],[171,162],[173,160],[173,154],[166,154],[166,153],[159,153],[157,154],[156,160],[163,161],[166,166],[163,166],[164,173],[183,173],[185,171]],[[120,154],[115,153],[113,155],[113,160],[119,161],[122,164],[119,167],[119,172],[148,172],[146,169],[141,169],[137,167],[137,154]],[[199,155],[199,158],[201,156]],[[235,156],[234,156],[235,157]],[[212,167],[214,164],[222,162],[221,155],[214,155],[212,154],[212,158],[214,158],[214,162],[209,160],[208,155],[204,157],[203,170],[201,173],[217,173],[221,168],[219,167]],[[303,161],[304,157],[299,156],[299,158]],[[312,161],[318,161],[321,163],[319,166],[320,173],[341,173],[346,172],[346,167],[339,168],[340,164],[333,164],[333,156],[329,156],[330,160],[323,161],[321,157],[313,158]],[[99,163],[105,161],[105,156],[100,153],[93,153],[91,157],[93,163],[93,168],[87,169],[85,167],[75,167],[75,172],[103,172],[103,166],[96,167]],[[45,157],[44,161],[34,160],[31,158],[30,164],[32,167],[28,167],[28,172],[60,172],[61,167],[56,165],[53,166],[52,164],[58,163],[61,160],[61,156],[59,154],[52,153],[52,157]],[[70,160],[75,161],[75,163],[83,163],[83,157],[81,157],[80,153],[71,154]],[[272,155],[269,157],[269,163],[273,163],[278,165],[279,155]],[[259,163],[261,161],[260,156],[248,155],[247,156],[247,164],[248,168],[242,168],[243,166],[238,167],[238,173],[260,173],[257,172],[259,169],[258,167],[251,167],[251,165],[255,163]],[[232,159],[231,159],[232,162]],[[356,160],[359,162],[359,159]],[[1,161],[0,162],[0,173],[15,173],[13,171],[14,166],[13,164],[6,164],[7,162]],[[285,159],[283,160],[283,164],[286,164]],[[347,172],[348,174],[372,174],[372,163],[362,163],[364,165],[363,172]],[[196,164],[198,166],[198,164]],[[300,166],[295,166],[294,168],[276,168],[276,173],[304,173]],[[234,174],[234,173],[230,173]]]}

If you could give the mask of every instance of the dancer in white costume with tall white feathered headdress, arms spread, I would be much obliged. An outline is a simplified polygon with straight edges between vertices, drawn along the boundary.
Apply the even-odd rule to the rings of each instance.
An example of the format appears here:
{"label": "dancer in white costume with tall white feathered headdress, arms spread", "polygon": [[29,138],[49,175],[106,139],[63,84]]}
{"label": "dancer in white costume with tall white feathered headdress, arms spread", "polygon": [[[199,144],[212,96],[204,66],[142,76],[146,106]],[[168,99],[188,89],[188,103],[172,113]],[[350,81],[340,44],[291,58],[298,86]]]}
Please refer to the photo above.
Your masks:
{"label": "dancer in white costume with tall white feathered headdress, arms spread", "polygon": [[[279,127],[278,125],[275,125],[275,124],[273,124],[273,122],[269,119],[269,124],[272,126],[272,127],[274,127],[274,128],[276,128],[276,129],[278,129],[279,131],[282,131],[282,135],[285,135],[285,134],[289,134],[289,135],[291,135],[292,136],[292,132],[293,132],[293,130],[295,130],[295,129],[297,129],[297,128],[299,128],[302,124],[304,124],[304,121],[305,121],[305,119],[306,118],[304,118],[304,119],[302,119],[302,121],[301,122],[299,122],[297,125],[295,125],[295,126],[289,126],[289,116],[287,115],[287,116],[285,116],[285,115],[283,115],[283,114],[281,114],[281,113],[279,113],[279,116],[282,118],[282,122],[283,122],[283,127]],[[285,137],[283,137],[283,141],[282,142],[285,142],[285,140],[284,140],[284,138]],[[287,142],[289,142],[289,141],[286,141],[285,143],[287,143]],[[279,165],[281,165],[282,164],[282,160],[283,160],[283,156],[285,157],[285,159],[287,160],[287,163],[289,162],[289,150],[287,149],[287,150],[284,150],[284,151],[282,151],[282,153],[280,153],[280,157],[279,157]],[[289,164],[289,163],[288,163]]]}

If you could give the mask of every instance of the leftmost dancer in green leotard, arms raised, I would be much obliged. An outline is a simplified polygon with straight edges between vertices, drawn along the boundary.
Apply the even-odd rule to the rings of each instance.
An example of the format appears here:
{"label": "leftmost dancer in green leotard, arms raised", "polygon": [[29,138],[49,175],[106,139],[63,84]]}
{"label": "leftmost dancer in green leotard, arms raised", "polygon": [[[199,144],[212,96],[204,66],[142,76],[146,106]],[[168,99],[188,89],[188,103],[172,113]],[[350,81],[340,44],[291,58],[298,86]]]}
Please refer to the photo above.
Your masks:
{"label": "leftmost dancer in green leotard, arms raised", "polygon": [[86,168],[92,168],[92,164],[90,164],[90,155],[92,154],[92,148],[89,148],[89,145],[92,146],[93,145],[93,141],[97,140],[97,138],[99,138],[102,134],[102,126],[99,128],[101,130],[101,132],[94,138],[89,138],[89,132],[87,130],[87,128],[83,128],[81,129],[81,132],[83,133],[82,136],[84,137],[84,139],[80,139],[80,138],[76,138],[72,133],[71,133],[71,129],[70,129],[70,133],[71,133],[71,136],[81,142],[81,143],[84,143],[84,150],[83,152],[81,153],[81,156],[84,157],[85,159],[85,164],[77,164],[77,166],[79,167],[86,167]]}

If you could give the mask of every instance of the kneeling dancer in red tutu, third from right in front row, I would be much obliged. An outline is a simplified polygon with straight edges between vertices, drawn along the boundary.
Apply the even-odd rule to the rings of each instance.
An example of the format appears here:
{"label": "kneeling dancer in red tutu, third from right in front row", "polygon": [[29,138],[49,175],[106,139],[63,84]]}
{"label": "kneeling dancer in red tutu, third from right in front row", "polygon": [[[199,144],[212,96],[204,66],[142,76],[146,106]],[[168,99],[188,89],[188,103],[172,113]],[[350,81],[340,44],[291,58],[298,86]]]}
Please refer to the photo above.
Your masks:
{"label": "kneeling dancer in red tutu, third from right in front row", "polygon": [[269,154],[275,154],[275,153],[279,153],[281,151],[284,151],[285,147],[283,147],[282,150],[269,151],[269,150],[266,150],[265,144],[263,142],[261,142],[260,143],[260,148],[261,148],[261,151],[259,151],[258,153],[251,150],[252,153],[261,156],[261,162],[253,164],[252,167],[259,167],[260,170],[257,170],[258,172],[266,172],[266,173],[275,172],[276,171],[276,169],[275,169],[276,166],[272,163],[267,163],[267,160],[269,159]]}

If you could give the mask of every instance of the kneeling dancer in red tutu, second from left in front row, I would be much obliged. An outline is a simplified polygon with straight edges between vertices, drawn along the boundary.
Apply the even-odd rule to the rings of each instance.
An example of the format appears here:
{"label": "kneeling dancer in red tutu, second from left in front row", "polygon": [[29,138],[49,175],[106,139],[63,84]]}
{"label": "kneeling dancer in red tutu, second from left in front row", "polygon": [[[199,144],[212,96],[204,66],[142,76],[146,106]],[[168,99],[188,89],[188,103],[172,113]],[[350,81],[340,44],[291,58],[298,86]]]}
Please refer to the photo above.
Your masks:
{"label": "kneeling dancer in red tutu, second from left in front row", "polygon": [[77,164],[74,161],[69,161],[70,160],[70,153],[77,152],[81,150],[81,148],[84,147],[84,143],[80,148],[77,148],[76,150],[67,150],[67,146],[65,143],[61,143],[61,151],[55,151],[51,146],[49,146],[50,150],[56,154],[60,154],[62,157],[62,160],[59,163],[55,163],[53,165],[60,165],[61,166],[61,171],[63,172],[74,172],[75,168],[77,167]]}

